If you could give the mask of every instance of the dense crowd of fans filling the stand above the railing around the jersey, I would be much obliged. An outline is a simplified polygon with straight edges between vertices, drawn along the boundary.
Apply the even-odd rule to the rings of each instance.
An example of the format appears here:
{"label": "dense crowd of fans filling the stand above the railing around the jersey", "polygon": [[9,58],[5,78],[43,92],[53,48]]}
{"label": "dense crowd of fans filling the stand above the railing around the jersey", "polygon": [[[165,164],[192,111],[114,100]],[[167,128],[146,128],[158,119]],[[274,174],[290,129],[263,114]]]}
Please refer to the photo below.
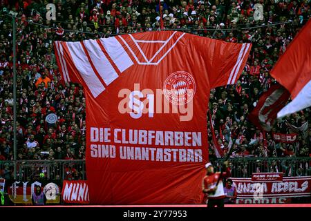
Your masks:
{"label": "dense crowd of fans filling the stand above the railing around the jersey", "polygon": [[[56,6],[56,21],[46,19],[48,3]],[[272,129],[273,133],[297,133],[292,143],[274,140],[273,133],[258,130],[247,119],[261,94],[275,84],[270,70],[310,19],[310,6],[310,0],[161,0],[160,7],[156,0],[2,0],[0,160],[13,160],[12,17],[8,15],[19,18],[17,160],[85,158],[84,91],[79,84],[60,83],[53,41],[159,30],[160,15],[167,30],[253,44],[237,84],[211,90],[211,122],[225,153],[232,146],[235,157],[310,156],[310,108],[279,119]],[[50,113],[57,115],[56,124],[46,122]],[[303,125],[307,127],[299,131]],[[212,158],[214,143],[208,128]]]}

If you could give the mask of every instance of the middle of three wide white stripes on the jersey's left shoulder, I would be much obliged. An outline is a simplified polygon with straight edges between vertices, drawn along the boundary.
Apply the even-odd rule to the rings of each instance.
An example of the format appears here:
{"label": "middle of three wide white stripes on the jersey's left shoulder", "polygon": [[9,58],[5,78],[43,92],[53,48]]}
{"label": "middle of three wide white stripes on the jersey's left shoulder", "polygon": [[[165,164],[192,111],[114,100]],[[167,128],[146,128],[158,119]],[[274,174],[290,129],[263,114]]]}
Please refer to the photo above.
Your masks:
{"label": "middle of three wide white stripes on the jersey's left shoulder", "polygon": [[100,74],[105,84],[108,86],[112,81],[117,79],[118,75],[115,69],[104,55],[104,52],[100,49],[100,46],[98,46],[97,41],[86,40],[84,41],[84,46],[86,50],[88,50],[88,55],[90,55],[97,72]]}

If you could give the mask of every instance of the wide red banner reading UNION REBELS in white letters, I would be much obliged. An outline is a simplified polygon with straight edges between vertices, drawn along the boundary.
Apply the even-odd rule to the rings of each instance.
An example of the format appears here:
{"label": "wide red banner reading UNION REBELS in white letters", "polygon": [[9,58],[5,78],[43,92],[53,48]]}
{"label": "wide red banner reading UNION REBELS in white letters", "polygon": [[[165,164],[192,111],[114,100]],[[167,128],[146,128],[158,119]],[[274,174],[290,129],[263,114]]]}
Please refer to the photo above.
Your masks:
{"label": "wide red banner reading UNION REBELS in white letters", "polygon": [[[283,182],[252,182],[252,178],[232,178],[238,198],[294,198],[310,197],[311,176],[283,177]],[[259,184],[259,185],[258,185]]]}

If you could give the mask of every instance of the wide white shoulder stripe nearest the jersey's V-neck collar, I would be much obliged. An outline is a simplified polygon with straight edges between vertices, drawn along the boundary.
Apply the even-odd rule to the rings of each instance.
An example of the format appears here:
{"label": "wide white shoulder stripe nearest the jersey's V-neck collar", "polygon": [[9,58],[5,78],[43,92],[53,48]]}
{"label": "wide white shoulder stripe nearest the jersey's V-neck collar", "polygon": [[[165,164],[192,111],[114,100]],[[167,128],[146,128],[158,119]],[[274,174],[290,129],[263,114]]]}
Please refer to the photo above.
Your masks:
{"label": "wide white shoulder stripe nearest the jersey's V-neck collar", "polygon": [[100,41],[121,73],[134,64],[115,37],[100,39]]}

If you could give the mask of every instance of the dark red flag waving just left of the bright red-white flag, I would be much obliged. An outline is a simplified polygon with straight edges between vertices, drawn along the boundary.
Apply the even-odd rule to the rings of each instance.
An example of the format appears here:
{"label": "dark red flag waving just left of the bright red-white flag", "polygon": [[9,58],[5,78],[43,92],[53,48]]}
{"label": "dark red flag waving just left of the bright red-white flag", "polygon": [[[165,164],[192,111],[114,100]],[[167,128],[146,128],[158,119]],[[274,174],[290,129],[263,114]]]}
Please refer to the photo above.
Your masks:
{"label": "dark red flag waving just left of the bright red-white flag", "polygon": [[256,108],[249,113],[249,120],[264,131],[271,131],[276,114],[285,106],[290,93],[280,84],[275,84],[261,95]]}

